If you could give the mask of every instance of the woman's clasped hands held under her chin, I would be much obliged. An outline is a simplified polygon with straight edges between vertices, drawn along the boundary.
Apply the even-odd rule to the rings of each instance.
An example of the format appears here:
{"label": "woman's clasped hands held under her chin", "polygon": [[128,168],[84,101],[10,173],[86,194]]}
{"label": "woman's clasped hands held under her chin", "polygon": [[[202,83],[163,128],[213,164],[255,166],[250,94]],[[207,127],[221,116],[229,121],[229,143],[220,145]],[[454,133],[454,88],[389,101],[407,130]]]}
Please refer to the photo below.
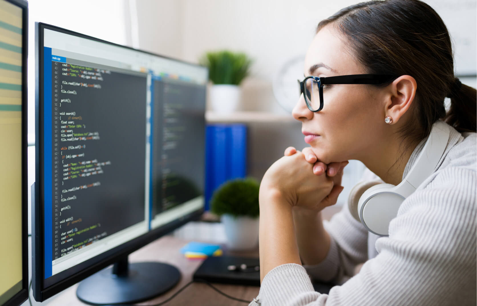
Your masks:
{"label": "woman's clasped hands held under her chin", "polygon": [[326,165],[311,148],[298,151],[289,147],[284,155],[265,172],[260,184],[260,203],[277,195],[292,207],[313,211],[336,203],[343,190],[341,179],[348,161]]}

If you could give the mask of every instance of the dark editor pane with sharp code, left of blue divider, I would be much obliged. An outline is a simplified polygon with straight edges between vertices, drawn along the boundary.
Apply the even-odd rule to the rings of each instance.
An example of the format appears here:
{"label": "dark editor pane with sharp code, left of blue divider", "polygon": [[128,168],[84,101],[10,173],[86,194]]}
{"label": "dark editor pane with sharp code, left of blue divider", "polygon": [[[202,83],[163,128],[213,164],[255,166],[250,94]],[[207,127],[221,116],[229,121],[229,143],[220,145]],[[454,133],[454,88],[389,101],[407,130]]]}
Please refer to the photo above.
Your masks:
{"label": "dark editor pane with sharp code, left of blue divider", "polygon": [[145,219],[146,75],[71,62],[51,63],[52,260]]}

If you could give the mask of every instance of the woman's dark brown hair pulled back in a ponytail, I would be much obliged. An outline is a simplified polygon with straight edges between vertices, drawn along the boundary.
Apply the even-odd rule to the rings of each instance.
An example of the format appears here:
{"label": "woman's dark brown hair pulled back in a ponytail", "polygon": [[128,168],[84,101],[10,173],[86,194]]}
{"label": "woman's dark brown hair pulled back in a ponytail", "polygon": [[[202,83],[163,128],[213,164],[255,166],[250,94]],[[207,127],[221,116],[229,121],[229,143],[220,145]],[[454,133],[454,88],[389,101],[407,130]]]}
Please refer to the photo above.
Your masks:
{"label": "woman's dark brown hair pulled back in a ponytail", "polygon": [[[449,32],[429,5],[419,0],[363,2],[321,21],[316,32],[331,23],[368,73],[415,78],[415,120],[401,131],[405,137],[419,142],[440,118],[460,132],[476,131],[476,89],[456,82]],[[452,96],[447,113],[446,96]]]}

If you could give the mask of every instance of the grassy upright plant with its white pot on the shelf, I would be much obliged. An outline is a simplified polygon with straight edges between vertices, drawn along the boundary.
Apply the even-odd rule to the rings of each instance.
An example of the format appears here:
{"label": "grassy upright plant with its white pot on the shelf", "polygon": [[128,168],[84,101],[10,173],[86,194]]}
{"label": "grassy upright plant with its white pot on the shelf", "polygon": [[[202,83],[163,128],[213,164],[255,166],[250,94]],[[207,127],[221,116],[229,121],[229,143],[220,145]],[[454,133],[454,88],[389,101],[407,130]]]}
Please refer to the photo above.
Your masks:
{"label": "grassy upright plant with its white pot on the shelf", "polygon": [[227,50],[205,53],[199,61],[209,69],[209,98],[212,109],[218,113],[231,113],[240,101],[239,84],[250,73],[252,60],[245,53]]}

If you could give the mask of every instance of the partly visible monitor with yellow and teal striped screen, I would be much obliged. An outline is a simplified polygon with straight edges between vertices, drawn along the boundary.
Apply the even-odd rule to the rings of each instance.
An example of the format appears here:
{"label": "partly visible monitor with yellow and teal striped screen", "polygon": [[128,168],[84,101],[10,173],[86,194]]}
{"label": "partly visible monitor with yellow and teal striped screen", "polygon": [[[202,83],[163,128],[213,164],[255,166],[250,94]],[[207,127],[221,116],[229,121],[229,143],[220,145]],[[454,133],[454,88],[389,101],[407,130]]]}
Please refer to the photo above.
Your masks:
{"label": "partly visible monitor with yellow and teal striped screen", "polygon": [[0,0],[0,305],[28,297],[28,3]]}

